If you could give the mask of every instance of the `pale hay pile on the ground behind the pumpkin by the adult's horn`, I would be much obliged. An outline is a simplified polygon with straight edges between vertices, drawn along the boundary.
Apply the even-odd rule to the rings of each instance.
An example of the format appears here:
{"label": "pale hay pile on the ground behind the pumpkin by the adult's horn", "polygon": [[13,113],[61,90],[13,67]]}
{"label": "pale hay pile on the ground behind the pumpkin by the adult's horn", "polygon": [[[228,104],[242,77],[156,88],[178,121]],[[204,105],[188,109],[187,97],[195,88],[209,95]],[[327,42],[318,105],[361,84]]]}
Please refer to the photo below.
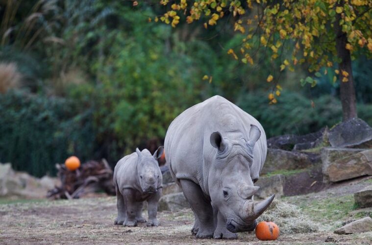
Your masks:
{"label": "pale hay pile on the ground behind the pumpkin by the adult's horn", "polygon": [[274,199],[270,207],[257,221],[273,221],[280,228],[280,234],[312,233],[320,224],[311,221],[298,206]]}

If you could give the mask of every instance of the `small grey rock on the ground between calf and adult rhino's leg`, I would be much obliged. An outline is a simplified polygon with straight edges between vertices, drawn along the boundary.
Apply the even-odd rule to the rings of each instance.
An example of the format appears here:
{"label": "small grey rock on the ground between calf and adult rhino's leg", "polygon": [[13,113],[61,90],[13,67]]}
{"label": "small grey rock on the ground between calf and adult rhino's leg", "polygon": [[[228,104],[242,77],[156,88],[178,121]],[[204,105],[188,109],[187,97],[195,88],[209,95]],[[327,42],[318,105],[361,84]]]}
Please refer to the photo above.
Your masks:
{"label": "small grey rock on the ground between calf and adult rhino's leg", "polygon": [[184,208],[190,208],[190,204],[182,192],[162,196],[158,204],[158,211],[174,212]]}

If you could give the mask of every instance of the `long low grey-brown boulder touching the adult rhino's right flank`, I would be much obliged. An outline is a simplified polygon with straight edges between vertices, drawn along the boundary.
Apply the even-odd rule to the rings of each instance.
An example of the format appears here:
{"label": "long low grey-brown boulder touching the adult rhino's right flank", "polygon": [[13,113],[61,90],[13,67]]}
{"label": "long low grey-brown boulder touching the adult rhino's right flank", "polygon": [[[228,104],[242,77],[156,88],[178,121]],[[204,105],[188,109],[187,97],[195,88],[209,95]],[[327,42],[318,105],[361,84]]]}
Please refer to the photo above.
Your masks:
{"label": "long low grey-brown boulder touching the adult rhino's right flank", "polygon": [[311,161],[307,154],[297,151],[269,148],[266,162],[261,173],[266,174],[277,170],[305,169],[313,165],[313,161]]}

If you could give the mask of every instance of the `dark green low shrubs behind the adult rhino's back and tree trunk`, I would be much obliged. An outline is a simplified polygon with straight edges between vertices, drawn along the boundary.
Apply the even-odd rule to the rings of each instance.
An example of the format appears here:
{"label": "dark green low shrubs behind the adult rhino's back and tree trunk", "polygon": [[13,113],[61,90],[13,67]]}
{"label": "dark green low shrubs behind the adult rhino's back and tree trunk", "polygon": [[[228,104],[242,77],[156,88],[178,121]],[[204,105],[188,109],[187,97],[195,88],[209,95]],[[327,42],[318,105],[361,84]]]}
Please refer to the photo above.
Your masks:
{"label": "dark green low shrubs behind the adult rhino's back and tree trunk", "polygon": [[[238,106],[255,117],[268,137],[283,134],[307,134],[342,121],[339,100],[324,95],[311,100],[300,94],[284,91],[280,103],[267,106],[265,92],[245,95]],[[358,115],[372,125],[372,105],[358,105]]]}

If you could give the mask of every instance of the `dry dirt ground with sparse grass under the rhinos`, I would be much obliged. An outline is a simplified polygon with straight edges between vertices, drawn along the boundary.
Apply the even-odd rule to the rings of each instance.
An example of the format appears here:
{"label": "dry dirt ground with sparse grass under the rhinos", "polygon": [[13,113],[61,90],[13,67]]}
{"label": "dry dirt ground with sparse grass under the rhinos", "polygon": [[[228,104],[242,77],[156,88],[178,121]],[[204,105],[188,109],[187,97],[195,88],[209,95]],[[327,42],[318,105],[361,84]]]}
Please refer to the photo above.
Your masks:
{"label": "dry dirt ground with sparse grass under the rhinos", "polygon": [[[282,198],[298,205],[314,221],[320,222],[321,231],[280,235],[275,242],[259,241],[254,233],[247,232],[238,234],[238,240],[232,241],[196,239],[190,232],[194,218],[190,209],[176,213],[159,212],[159,227],[114,225],[116,197],[12,203],[2,200],[0,244],[324,244],[325,241],[371,244],[372,231],[352,235],[333,234],[334,228],[342,221],[353,218],[350,216],[352,193],[371,184],[371,179],[364,179],[314,194]],[[328,205],[332,202],[334,205]],[[327,205],[334,210],[324,208]]]}

